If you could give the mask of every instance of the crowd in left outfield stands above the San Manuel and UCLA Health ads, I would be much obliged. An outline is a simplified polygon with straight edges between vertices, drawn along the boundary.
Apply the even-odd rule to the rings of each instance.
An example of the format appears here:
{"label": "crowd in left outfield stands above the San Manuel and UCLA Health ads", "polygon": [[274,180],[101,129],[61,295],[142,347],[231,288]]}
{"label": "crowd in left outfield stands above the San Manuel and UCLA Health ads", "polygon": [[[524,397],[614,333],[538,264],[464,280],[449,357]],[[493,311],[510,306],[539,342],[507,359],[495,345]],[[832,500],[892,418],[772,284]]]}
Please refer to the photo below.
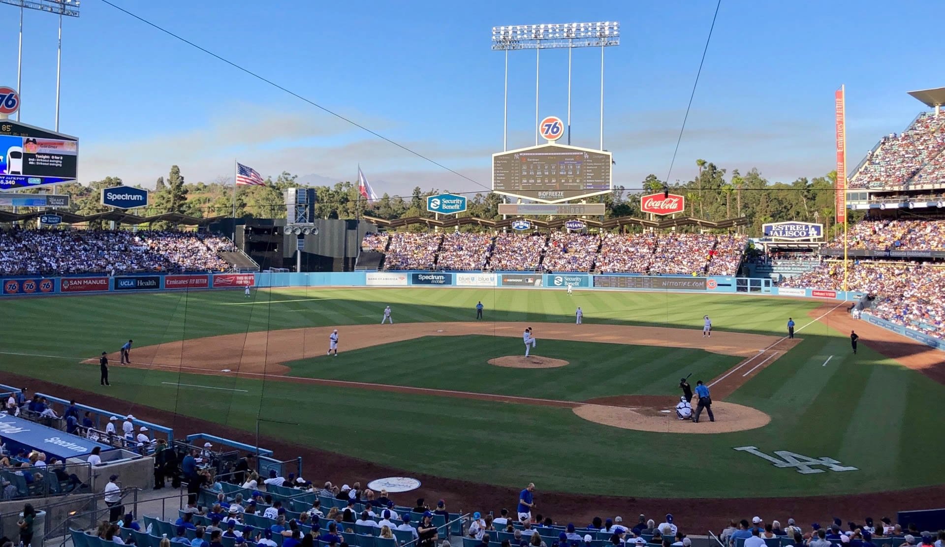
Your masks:
{"label": "crowd in left outfield stands above the San Manuel and UCLA Health ads", "polygon": [[0,274],[225,271],[224,237],[184,231],[0,231]]}

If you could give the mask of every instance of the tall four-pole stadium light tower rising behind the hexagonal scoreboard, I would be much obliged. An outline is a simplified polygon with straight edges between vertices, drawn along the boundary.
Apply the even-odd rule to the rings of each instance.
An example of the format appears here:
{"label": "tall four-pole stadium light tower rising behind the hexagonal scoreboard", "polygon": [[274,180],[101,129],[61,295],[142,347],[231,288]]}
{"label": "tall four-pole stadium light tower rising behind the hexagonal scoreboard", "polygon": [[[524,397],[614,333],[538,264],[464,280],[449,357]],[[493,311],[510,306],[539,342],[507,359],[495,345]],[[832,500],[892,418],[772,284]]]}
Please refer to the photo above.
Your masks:
{"label": "tall four-pole stadium light tower rising behind the hexagonal scoreboard", "polygon": [[506,52],[505,115],[502,149],[508,149],[508,52],[535,50],[535,145],[539,139],[539,55],[542,49],[568,49],[568,145],[571,145],[571,50],[576,47],[600,47],[600,149],[604,149],[604,48],[620,45],[620,23],[560,23],[551,25],[513,25],[492,27],[492,50]]}

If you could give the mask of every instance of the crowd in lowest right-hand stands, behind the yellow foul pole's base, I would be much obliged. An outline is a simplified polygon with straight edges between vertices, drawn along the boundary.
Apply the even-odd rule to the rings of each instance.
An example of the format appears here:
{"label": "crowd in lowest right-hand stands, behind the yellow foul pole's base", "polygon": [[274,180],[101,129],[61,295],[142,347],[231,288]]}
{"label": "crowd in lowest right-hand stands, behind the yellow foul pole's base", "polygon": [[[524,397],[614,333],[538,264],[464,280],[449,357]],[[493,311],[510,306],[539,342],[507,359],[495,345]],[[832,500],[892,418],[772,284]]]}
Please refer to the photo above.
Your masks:
{"label": "crowd in lowest right-hand stands, behind the yellow foul pole's base", "polygon": [[[779,286],[839,291],[843,278],[843,263],[826,261]],[[945,266],[855,261],[848,265],[847,286],[875,297],[869,313],[945,339],[945,300],[941,298]]]}

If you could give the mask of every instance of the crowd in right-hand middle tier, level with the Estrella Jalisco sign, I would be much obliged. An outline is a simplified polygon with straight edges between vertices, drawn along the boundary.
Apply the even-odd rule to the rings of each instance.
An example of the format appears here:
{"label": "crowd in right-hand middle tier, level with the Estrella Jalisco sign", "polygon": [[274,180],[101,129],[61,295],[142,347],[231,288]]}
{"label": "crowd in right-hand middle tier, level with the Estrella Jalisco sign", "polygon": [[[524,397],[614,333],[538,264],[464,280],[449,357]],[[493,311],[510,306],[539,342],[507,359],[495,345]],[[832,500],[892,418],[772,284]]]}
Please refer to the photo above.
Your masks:
{"label": "crowd in right-hand middle tier, level with the Estrella Jalisco sign", "polygon": [[[849,248],[868,250],[945,249],[945,220],[864,220],[847,232]],[[843,248],[843,236],[826,245]]]}

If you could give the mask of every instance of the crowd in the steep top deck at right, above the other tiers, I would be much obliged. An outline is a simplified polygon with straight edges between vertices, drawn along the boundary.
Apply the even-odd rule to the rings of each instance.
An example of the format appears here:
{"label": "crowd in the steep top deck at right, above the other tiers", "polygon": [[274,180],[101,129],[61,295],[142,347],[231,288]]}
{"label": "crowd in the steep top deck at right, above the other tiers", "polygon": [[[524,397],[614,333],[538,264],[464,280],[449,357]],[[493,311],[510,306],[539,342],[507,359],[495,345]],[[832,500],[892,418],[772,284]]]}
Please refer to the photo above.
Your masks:
{"label": "crowd in the steep top deck at right, above the other tiers", "polygon": [[850,188],[900,186],[923,164],[945,149],[945,116],[922,112],[900,135],[890,134],[869,153],[867,162],[851,177]]}

